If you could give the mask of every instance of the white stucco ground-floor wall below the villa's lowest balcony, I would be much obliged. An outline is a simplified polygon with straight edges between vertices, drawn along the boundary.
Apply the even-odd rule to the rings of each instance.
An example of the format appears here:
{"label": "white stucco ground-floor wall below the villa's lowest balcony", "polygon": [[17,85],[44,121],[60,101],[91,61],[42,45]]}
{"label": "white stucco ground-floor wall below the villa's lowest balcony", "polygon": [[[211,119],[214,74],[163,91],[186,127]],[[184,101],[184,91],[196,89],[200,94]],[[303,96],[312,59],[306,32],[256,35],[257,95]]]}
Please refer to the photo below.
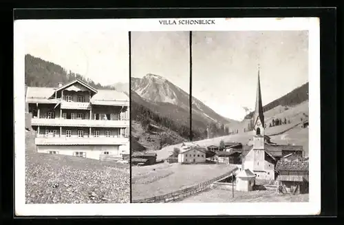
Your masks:
{"label": "white stucco ground-floor wall below the villa's lowest balcony", "polygon": [[37,152],[49,153],[49,151],[56,151],[56,153],[67,156],[74,156],[75,151],[82,151],[86,153],[86,158],[92,158],[99,160],[99,156],[104,151],[109,151],[109,155],[120,156],[118,145],[39,145],[37,146]]}

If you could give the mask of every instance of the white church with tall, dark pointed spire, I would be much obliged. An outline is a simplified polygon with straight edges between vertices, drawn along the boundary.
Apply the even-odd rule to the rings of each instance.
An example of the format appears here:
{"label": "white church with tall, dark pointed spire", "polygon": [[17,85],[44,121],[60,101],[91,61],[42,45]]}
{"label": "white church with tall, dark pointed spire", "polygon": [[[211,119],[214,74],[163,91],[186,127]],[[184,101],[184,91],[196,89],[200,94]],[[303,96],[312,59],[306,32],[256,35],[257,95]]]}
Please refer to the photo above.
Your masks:
{"label": "white church with tall, dark pointed spire", "polygon": [[[257,180],[275,180],[275,165],[283,155],[294,153],[297,156],[303,155],[302,146],[279,145],[270,142],[270,138],[264,135],[264,111],[261,100],[261,87],[257,82],[257,98],[255,104],[255,114],[253,114],[253,136],[252,149],[247,151],[242,157],[243,169],[250,169],[256,175]],[[271,150],[271,151],[270,151]]]}

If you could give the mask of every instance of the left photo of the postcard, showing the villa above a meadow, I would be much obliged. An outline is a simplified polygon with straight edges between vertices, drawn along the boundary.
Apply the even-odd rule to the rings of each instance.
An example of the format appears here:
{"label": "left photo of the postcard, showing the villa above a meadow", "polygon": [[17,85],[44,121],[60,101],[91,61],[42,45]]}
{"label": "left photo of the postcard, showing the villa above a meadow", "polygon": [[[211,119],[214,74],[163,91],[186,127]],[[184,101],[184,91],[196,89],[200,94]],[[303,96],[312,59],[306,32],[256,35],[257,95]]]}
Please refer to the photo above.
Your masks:
{"label": "left photo of the postcard, showing the villa above a meadow", "polygon": [[130,202],[129,32],[94,27],[32,21],[14,54],[25,62],[25,204]]}

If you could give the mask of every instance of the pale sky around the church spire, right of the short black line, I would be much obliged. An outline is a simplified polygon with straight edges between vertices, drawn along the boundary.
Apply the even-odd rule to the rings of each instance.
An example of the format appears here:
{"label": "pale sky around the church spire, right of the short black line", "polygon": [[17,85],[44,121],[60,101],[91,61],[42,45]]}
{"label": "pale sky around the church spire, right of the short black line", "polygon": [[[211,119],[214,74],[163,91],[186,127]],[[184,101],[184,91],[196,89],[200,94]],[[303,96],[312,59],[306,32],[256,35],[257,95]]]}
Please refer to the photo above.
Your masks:
{"label": "pale sky around the church spire, right of the short black line", "polygon": [[267,105],[308,82],[307,31],[193,32],[192,94],[227,118],[253,110],[260,67]]}

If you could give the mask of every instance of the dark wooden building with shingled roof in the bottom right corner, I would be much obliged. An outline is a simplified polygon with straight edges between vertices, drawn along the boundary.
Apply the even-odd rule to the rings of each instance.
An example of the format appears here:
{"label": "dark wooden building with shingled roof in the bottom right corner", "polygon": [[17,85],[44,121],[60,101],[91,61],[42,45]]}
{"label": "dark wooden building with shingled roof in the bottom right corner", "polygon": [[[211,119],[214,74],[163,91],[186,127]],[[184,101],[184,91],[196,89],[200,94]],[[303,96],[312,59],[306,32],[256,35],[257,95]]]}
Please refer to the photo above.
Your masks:
{"label": "dark wooden building with shingled roof in the bottom right corner", "polygon": [[308,193],[308,162],[277,162],[279,189],[286,193]]}

